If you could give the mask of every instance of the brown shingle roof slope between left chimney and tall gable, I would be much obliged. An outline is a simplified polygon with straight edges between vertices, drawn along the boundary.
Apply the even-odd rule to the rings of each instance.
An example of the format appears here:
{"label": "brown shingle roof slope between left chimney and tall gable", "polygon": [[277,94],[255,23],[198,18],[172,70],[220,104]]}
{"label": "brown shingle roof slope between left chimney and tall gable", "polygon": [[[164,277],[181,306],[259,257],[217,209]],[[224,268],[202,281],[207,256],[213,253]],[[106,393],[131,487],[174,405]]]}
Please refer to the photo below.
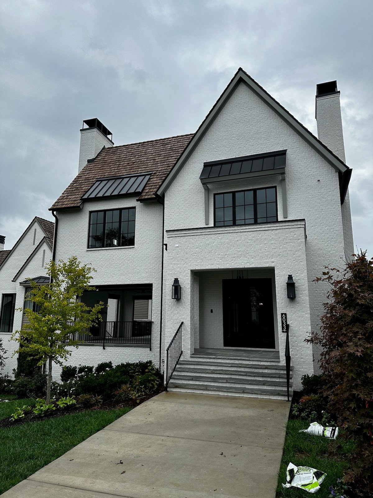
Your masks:
{"label": "brown shingle roof slope between left chimney and tall gable", "polygon": [[180,157],[193,133],[102,149],[60,195],[50,210],[78,207],[81,197],[97,178],[137,173],[152,175],[139,199],[154,199],[155,193]]}

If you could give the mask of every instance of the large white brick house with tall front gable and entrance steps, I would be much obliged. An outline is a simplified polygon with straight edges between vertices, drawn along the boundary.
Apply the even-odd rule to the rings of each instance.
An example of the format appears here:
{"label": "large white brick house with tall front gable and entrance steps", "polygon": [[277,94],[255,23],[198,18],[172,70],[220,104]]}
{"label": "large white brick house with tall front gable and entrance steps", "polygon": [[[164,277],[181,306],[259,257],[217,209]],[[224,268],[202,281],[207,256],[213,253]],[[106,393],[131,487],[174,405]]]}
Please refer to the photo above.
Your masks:
{"label": "large white brick house with tall front gable and entrance steps", "polygon": [[182,349],[170,389],[282,398],[285,313],[293,387],[317,372],[313,280],[353,253],[335,81],[317,85],[316,119],[318,138],[240,68],[194,134],[114,147],[85,121],[79,174],[50,208],[54,257],[91,263],[83,299],[108,308],[68,363],[173,370]]}

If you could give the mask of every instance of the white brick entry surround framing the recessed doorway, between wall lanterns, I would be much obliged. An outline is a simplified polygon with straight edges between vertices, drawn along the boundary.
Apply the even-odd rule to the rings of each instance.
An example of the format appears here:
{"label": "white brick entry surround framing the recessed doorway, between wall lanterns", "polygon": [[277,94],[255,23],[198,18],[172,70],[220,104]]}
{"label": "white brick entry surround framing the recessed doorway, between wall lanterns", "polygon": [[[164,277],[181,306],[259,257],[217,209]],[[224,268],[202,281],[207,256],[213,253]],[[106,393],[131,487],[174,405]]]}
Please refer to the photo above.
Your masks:
{"label": "white brick entry surround framing the recessed doorway, between wall lanterns", "polygon": [[[312,348],[304,343],[310,330],[309,295],[307,286],[306,243],[304,222],[269,223],[258,226],[219,227],[210,230],[196,229],[167,233],[168,251],[165,258],[165,345],[168,345],[180,322],[183,325],[183,351],[186,357],[192,353],[190,345],[196,343],[198,333],[193,324],[195,314],[192,292],[194,272],[199,274],[201,309],[203,276],[208,270],[249,268],[258,274],[258,268],[274,271],[276,282],[277,313],[287,313],[290,325],[291,363],[294,366],[294,385],[300,387],[303,373],[313,370]],[[291,247],[288,245],[291,241]],[[279,248],[283,248],[279,250]],[[286,297],[286,280],[289,261],[296,278],[296,299]],[[229,274],[229,272],[228,272]],[[182,299],[171,299],[168,289],[178,277],[182,286]],[[201,283],[202,282],[202,283]],[[216,305],[217,300],[216,300]],[[209,312],[209,308],[207,308]],[[276,309],[275,309],[276,312]],[[208,314],[208,313],[207,313]],[[200,312],[199,312],[200,315]],[[217,326],[218,324],[215,323]],[[202,323],[199,322],[200,336]],[[211,331],[211,326],[208,329]],[[222,327],[220,325],[220,330]],[[190,340],[189,336],[192,336]],[[284,362],[285,334],[278,333],[280,360]]]}

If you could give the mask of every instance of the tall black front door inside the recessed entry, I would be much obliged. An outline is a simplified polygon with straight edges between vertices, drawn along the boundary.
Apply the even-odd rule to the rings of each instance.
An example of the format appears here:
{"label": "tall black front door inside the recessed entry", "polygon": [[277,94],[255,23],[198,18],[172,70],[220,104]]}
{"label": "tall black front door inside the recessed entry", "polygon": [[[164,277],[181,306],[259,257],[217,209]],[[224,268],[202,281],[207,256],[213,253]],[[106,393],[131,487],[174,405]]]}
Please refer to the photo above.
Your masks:
{"label": "tall black front door inside the recessed entry", "polygon": [[275,349],[272,279],[223,280],[224,346]]}

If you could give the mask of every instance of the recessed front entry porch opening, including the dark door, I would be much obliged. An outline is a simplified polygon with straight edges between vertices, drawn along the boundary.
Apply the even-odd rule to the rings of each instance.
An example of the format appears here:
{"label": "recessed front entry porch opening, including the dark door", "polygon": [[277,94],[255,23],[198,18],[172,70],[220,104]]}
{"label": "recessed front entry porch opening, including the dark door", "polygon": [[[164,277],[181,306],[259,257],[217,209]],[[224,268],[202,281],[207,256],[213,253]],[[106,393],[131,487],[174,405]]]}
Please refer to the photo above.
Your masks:
{"label": "recessed front entry porch opening, including the dark door", "polygon": [[[225,358],[279,358],[273,268],[194,271],[193,276],[199,321],[191,353],[203,349],[214,350],[211,355],[220,350]],[[228,353],[232,349],[236,353]]]}

